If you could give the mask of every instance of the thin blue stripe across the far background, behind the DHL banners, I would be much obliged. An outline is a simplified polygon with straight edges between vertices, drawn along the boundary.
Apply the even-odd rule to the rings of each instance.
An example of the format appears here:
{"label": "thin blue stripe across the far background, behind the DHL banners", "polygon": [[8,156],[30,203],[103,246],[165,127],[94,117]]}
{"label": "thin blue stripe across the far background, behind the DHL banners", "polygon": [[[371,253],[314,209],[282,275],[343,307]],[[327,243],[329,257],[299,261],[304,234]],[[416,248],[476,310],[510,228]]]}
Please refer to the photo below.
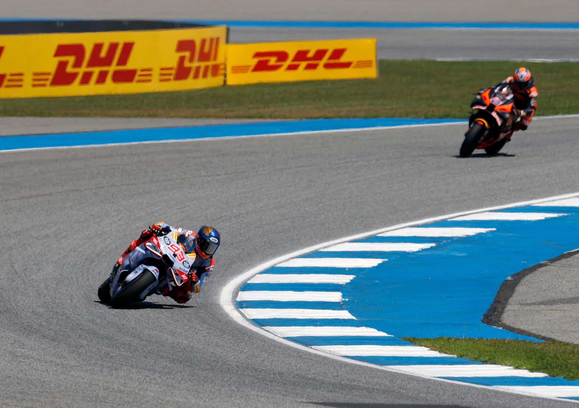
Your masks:
{"label": "thin blue stripe across the far background, behind the DHL banners", "polygon": [[183,23],[227,25],[230,28],[382,28],[387,30],[579,30],[573,23],[499,23],[460,21],[288,21],[288,20],[179,20]]}

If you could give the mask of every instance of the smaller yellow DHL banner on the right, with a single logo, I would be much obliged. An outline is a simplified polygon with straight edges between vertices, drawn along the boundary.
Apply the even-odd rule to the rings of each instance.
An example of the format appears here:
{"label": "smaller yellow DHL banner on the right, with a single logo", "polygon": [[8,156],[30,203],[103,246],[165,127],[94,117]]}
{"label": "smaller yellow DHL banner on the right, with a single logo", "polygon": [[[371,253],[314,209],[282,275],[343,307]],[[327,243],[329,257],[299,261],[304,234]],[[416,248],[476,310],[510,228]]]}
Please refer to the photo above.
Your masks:
{"label": "smaller yellow DHL banner on the right, with a single logo", "polygon": [[377,76],[375,38],[227,45],[228,85]]}

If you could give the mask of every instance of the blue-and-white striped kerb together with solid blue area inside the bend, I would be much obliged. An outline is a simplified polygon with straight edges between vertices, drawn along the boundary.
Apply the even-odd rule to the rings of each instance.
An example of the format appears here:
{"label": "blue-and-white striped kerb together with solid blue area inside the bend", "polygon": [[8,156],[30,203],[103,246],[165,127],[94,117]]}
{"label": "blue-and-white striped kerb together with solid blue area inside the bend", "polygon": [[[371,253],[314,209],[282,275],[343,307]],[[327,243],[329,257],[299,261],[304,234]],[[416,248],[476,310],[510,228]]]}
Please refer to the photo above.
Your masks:
{"label": "blue-and-white striped kerb together with solid blue area inside the bend", "polygon": [[571,201],[441,220],[307,253],[250,279],[240,288],[237,307],[287,340],[403,372],[424,366],[423,375],[470,384],[579,387],[579,381],[511,374],[508,367],[432,354],[402,340],[541,341],[485,325],[482,317],[510,275],[579,248],[579,198]]}

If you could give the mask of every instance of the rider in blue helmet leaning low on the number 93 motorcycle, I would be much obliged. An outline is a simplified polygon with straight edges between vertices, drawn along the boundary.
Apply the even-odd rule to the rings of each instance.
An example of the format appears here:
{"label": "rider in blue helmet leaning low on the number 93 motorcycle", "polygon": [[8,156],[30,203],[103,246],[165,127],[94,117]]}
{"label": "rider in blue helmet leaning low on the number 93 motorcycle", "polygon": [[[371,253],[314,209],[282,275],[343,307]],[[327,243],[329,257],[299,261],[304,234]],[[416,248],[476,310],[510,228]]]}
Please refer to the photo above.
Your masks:
{"label": "rider in blue helmet leaning low on the number 93 motorcycle", "polygon": [[170,233],[177,234],[175,241],[189,257],[190,269],[188,280],[183,286],[179,288],[167,286],[162,290],[161,294],[171,297],[177,303],[186,303],[191,299],[193,293],[199,293],[204,281],[211,275],[215,267],[213,255],[221,244],[221,236],[219,231],[213,227],[204,225],[195,233],[188,229],[172,227],[165,222],[150,225],[119,256],[113,269],[118,268],[123,263],[124,256],[133,252],[143,242],[151,239],[153,235],[160,237]]}

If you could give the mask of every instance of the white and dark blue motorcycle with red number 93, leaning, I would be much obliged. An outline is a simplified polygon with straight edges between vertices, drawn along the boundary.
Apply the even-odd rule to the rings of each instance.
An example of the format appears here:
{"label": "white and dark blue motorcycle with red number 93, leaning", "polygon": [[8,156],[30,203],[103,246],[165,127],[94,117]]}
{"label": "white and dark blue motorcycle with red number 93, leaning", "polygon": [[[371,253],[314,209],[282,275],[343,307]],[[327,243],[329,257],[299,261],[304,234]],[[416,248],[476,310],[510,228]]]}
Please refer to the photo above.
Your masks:
{"label": "white and dark blue motorcycle with red number 93, leaning", "polygon": [[189,280],[195,256],[195,253],[185,253],[177,242],[177,233],[152,236],[123,256],[120,266],[115,266],[98,287],[98,299],[112,307],[120,307],[140,302],[149,295],[160,295],[167,286],[181,287]]}

